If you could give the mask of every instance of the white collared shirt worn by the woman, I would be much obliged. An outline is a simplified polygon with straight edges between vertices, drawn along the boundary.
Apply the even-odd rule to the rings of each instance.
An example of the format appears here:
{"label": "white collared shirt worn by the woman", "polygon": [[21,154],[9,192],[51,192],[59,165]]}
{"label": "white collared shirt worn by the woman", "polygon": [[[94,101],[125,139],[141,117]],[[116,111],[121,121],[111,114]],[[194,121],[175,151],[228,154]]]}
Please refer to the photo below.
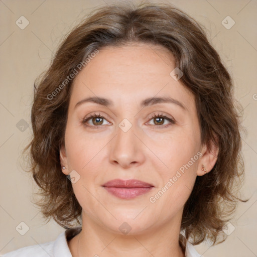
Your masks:
{"label": "white collared shirt worn by the woman", "polygon": [[[78,234],[80,230],[81,227],[67,229],[55,241],[26,246],[8,252],[3,257],[72,257],[67,241]],[[183,243],[186,244],[185,257],[201,256],[184,236]]]}

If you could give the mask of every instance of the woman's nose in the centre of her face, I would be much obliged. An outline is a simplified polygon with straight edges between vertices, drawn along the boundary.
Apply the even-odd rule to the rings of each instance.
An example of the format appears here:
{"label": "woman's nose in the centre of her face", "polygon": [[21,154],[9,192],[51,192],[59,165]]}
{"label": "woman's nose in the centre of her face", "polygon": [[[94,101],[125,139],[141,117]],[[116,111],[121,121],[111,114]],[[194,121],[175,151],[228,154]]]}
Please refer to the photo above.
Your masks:
{"label": "woman's nose in the centre of her face", "polygon": [[[131,126],[131,127],[130,127]],[[127,169],[142,165],[146,159],[143,136],[137,125],[128,120],[120,122],[116,128],[116,136],[109,145],[109,161]]]}

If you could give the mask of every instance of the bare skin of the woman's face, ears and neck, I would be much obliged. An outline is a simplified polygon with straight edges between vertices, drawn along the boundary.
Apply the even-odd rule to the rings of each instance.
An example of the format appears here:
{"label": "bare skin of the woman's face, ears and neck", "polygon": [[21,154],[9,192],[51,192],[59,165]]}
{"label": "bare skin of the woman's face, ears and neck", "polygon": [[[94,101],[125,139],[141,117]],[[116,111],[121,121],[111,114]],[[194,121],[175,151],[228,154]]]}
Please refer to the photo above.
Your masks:
{"label": "bare skin of the woman's face, ears and neck", "polygon": [[[137,43],[100,49],[76,76],[60,148],[62,172],[80,175],[72,184],[82,206],[82,231],[68,243],[73,256],[184,256],[178,242],[183,207],[196,177],[205,174],[202,164],[210,171],[218,150],[201,144],[194,96],[170,76],[175,67],[167,49]],[[108,98],[113,106],[87,102],[74,108],[89,96]],[[185,108],[175,103],[140,106],[154,96],[172,97]],[[94,112],[104,119],[83,124]],[[175,123],[151,118],[160,113]],[[124,118],[132,125],[127,132],[118,126]],[[198,152],[202,156],[151,203],[150,197]],[[138,179],[154,188],[134,199],[119,199],[101,186],[112,179]],[[119,230],[123,222],[131,227],[127,234]]]}

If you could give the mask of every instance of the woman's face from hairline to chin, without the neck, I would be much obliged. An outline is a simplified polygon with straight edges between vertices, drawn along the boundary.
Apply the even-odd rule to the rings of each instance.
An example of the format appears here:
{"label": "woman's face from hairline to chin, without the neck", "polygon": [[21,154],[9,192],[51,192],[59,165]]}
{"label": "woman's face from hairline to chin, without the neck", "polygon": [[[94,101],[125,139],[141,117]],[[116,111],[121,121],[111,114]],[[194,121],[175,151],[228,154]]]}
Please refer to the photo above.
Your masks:
{"label": "woman's face from hairline to chin, without the neck", "polygon": [[[194,97],[174,68],[168,50],[141,43],[100,49],[76,76],[61,163],[84,219],[131,234],[181,221],[202,149]],[[147,185],[103,186],[116,179]]]}

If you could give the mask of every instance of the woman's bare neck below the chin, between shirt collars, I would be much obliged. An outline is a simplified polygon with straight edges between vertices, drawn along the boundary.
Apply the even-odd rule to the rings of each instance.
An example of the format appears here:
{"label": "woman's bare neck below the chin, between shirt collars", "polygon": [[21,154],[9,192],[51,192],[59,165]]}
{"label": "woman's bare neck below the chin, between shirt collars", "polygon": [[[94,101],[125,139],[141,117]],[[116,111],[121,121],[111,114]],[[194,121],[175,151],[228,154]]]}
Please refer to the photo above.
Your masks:
{"label": "woman's bare neck below the chin, between shirt collars", "polygon": [[68,242],[72,256],[185,256],[184,249],[179,244],[178,222],[165,223],[158,229],[140,233],[124,235],[118,232],[107,230],[88,216],[82,215],[81,232]]}

